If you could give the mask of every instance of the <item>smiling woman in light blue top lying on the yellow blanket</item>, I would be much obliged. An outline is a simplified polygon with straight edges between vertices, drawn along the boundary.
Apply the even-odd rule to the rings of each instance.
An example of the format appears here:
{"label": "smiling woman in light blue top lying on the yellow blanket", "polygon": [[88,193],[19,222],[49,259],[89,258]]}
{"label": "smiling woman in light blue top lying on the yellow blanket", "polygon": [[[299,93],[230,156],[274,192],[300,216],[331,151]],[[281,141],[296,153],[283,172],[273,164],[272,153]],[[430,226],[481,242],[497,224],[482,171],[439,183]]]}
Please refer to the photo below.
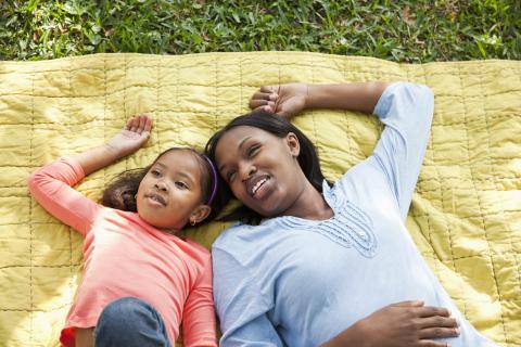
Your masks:
{"label": "smiling woman in light blue top lying on the yellow blanket", "polygon": [[[429,88],[291,83],[263,87],[251,106],[206,146],[244,204],[228,216],[244,223],[213,246],[223,346],[495,346],[405,228],[433,115]],[[323,107],[373,112],[385,124],[374,153],[332,187],[310,141],[266,114]],[[411,299],[420,301],[389,306]]]}

